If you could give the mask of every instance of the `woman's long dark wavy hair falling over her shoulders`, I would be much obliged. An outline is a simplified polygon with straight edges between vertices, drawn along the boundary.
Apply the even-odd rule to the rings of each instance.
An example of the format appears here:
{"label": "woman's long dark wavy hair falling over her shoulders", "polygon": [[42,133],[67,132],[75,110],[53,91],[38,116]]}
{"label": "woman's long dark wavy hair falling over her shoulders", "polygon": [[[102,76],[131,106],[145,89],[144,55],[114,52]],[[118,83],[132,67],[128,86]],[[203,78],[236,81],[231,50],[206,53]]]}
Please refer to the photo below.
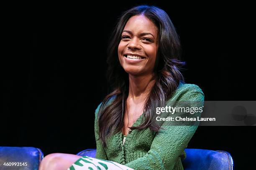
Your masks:
{"label": "woman's long dark wavy hair falling over her shoulders", "polygon": [[[156,25],[159,48],[154,67],[156,81],[146,98],[143,108],[145,121],[139,126],[130,127],[130,129],[150,128],[150,130],[158,132],[161,126],[154,121],[156,107],[163,107],[166,100],[172,97],[179,82],[184,81],[180,72],[185,63],[179,60],[181,55],[179,36],[166,12],[158,7],[148,5],[132,7],[125,11],[118,20],[108,47],[107,76],[112,92],[102,101],[97,117],[98,140],[101,140],[104,147],[106,147],[106,139],[110,135],[120,132],[124,126],[123,116],[128,97],[129,80],[128,73],[125,72],[118,59],[118,45],[125,24],[134,15],[143,15]],[[112,97],[111,104],[107,104]]]}

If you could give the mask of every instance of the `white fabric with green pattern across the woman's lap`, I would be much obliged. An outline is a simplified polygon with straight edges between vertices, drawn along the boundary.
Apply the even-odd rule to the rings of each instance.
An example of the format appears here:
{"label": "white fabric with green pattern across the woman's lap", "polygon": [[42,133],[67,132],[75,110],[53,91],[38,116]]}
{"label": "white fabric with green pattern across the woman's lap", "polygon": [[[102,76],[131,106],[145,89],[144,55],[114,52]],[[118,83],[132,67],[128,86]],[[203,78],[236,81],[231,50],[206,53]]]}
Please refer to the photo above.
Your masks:
{"label": "white fabric with green pattern across the woman's lap", "polygon": [[109,160],[83,156],[72,164],[68,170],[133,170],[125,165]]}

